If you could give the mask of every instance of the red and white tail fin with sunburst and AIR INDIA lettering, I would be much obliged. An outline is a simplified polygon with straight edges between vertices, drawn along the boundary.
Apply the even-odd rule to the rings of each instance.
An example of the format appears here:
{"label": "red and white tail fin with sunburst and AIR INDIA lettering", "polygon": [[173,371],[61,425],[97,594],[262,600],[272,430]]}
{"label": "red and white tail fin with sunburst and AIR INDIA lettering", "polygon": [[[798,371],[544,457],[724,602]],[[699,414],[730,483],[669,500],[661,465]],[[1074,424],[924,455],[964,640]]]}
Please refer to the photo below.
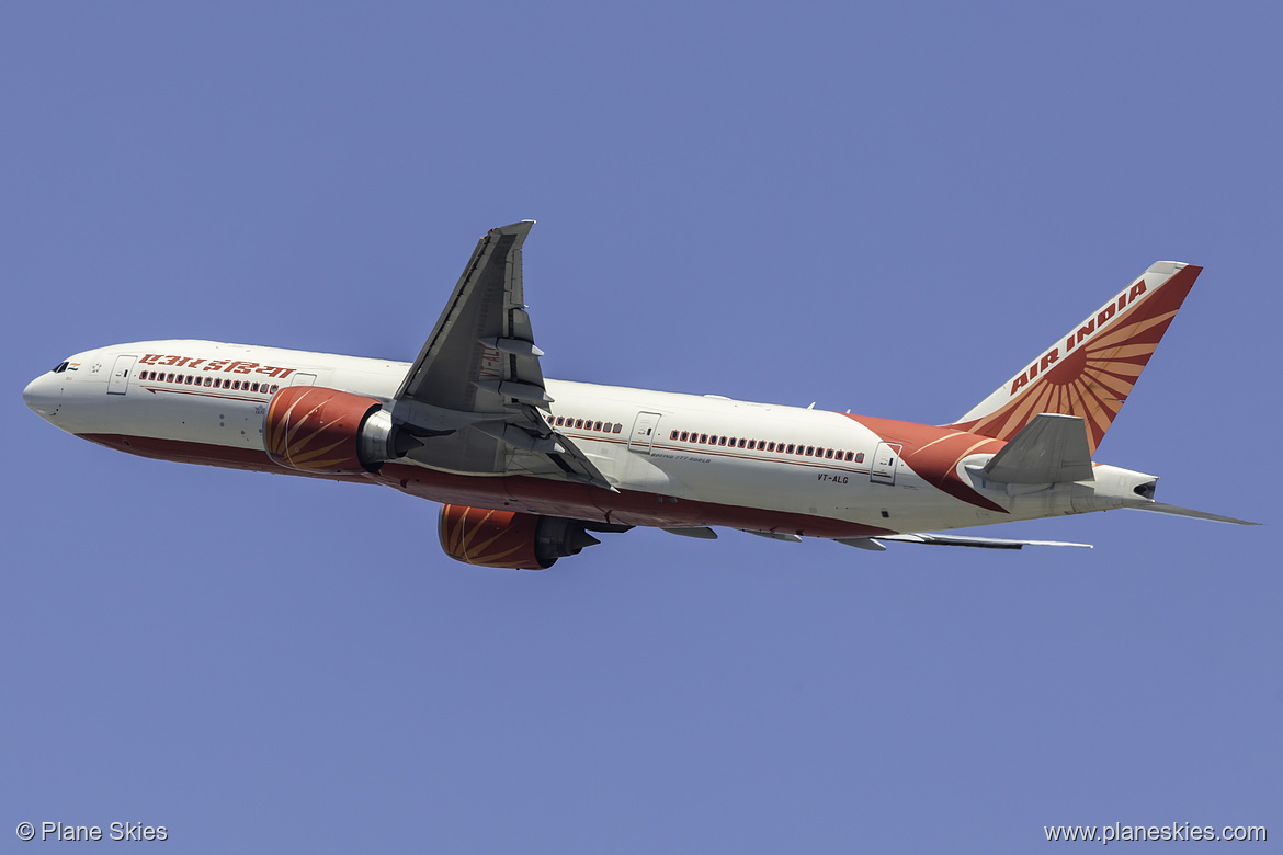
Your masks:
{"label": "red and white tail fin with sunburst and AIR INDIA lettering", "polygon": [[1201,270],[1156,261],[949,427],[1010,441],[1041,413],[1076,415],[1096,454]]}

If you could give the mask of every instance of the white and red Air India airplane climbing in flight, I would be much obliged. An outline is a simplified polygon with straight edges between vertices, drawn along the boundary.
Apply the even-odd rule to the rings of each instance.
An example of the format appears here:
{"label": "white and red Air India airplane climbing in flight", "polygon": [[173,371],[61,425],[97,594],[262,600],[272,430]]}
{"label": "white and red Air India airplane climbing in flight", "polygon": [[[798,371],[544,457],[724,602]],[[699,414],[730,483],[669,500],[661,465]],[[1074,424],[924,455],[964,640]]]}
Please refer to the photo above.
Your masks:
{"label": "white and red Air India airplane climbing in flight", "polygon": [[547,569],[633,527],[988,549],[948,532],[1132,508],[1155,476],[1092,455],[1202,268],[1157,261],[957,420],[545,379],[522,291],[534,220],[477,242],[413,363],[218,341],[87,350],[23,391],[81,438],[144,458],[382,485],[441,502],[445,554]]}

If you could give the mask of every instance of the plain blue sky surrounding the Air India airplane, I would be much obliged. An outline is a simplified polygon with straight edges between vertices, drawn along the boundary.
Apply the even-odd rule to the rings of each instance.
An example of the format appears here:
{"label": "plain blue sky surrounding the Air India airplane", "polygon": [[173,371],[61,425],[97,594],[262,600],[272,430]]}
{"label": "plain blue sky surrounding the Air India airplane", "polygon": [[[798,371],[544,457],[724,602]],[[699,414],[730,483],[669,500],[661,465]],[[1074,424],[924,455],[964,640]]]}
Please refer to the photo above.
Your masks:
{"label": "plain blue sky surrounding the Air India airplane", "polygon": [[[1280,17],[6,4],[0,834],[1283,836]],[[997,555],[634,531],[513,573],[445,558],[430,502],[130,458],[21,403],[142,338],[413,359],[521,218],[547,376],[930,423],[1151,261],[1201,264],[1097,459],[1266,527],[1117,511],[987,531],[1092,551]]]}

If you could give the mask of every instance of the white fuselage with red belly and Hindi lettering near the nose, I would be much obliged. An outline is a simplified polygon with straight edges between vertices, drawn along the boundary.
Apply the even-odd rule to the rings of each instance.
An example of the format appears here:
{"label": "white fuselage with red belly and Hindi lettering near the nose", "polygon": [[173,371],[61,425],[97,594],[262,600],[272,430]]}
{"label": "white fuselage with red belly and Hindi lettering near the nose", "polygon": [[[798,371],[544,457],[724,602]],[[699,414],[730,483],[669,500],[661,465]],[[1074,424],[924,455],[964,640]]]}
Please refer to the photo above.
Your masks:
{"label": "white fuselage with red belly and Hindi lettering near the nose", "polygon": [[[263,444],[264,411],[278,387],[313,385],[389,404],[408,369],[408,363],[394,360],[276,347],[146,341],[78,354],[65,369],[33,381],[24,397],[56,427],[123,451],[287,472],[267,456]],[[930,456],[930,446],[970,436],[946,428],[552,379],[547,391],[554,399],[549,423],[597,465],[615,491],[452,472],[412,460],[394,461],[368,479],[477,506],[622,524],[734,526],[820,537],[1103,510],[1128,504],[1137,485],[1152,481],[1097,465],[1094,482],[1008,495],[1007,488],[987,487],[966,470],[967,464],[983,465],[992,458],[1001,447],[996,440],[974,442],[971,454],[966,452],[970,446],[958,445],[956,460],[939,463]],[[928,460],[931,472],[915,470]],[[943,481],[952,486],[942,490]]]}

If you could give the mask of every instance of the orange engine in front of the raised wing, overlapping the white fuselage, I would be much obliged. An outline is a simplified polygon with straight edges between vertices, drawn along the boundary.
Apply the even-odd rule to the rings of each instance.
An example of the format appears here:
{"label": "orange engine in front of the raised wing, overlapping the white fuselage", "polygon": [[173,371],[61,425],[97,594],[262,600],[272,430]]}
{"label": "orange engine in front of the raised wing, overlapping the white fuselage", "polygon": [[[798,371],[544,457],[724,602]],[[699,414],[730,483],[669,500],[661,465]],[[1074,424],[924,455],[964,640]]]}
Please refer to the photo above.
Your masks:
{"label": "orange engine in front of the raised wing, overlapping the white fuselage", "polygon": [[378,472],[389,459],[391,417],[372,397],[321,386],[286,386],[263,417],[273,461],[317,474]]}

